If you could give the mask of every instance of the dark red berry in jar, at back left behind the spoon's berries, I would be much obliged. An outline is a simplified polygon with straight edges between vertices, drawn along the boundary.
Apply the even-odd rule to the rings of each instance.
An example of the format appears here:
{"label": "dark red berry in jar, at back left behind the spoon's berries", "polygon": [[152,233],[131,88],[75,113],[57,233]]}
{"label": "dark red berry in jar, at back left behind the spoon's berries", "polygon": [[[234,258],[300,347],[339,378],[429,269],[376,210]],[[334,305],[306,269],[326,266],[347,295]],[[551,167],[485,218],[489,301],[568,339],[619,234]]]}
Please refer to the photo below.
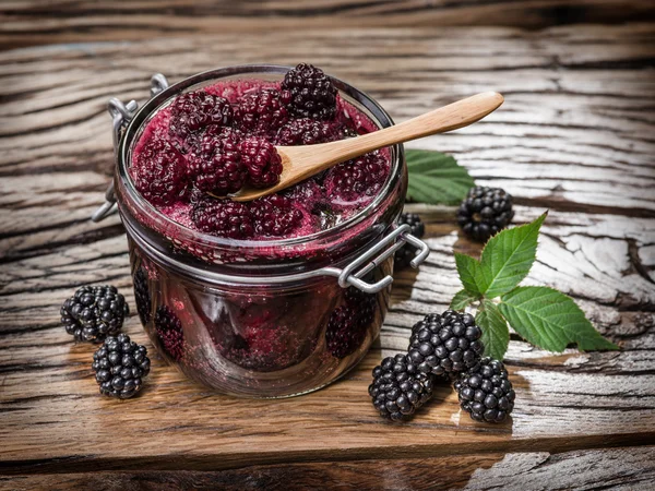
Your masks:
{"label": "dark red berry in jar, at back left behind the spoon's berries", "polygon": [[209,124],[228,125],[233,109],[227,99],[204,91],[182,94],[170,105],[168,133],[180,140]]}

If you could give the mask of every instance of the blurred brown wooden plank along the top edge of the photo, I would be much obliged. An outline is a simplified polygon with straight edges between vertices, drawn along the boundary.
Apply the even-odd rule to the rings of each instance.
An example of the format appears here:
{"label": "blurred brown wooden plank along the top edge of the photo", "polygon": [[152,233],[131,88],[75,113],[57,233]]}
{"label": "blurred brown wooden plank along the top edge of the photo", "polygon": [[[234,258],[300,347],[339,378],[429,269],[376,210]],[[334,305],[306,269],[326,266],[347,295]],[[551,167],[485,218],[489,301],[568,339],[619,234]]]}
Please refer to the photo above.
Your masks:
{"label": "blurred brown wooden plank along the top edge of the photo", "polygon": [[527,28],[574,23],[653,21],[650,2],[634,0],[5,0],[0,49],[51,43],[122,41],[158,36],[297,31],[335,26]]}

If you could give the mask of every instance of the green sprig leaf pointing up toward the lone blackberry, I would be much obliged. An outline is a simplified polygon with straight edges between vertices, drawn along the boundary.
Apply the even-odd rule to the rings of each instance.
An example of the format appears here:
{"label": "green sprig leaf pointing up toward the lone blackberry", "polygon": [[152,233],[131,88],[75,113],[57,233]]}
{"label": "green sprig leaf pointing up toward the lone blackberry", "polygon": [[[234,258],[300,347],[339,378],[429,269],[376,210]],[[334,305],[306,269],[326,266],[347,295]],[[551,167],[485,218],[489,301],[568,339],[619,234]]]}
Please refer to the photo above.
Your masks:
{"label": "green sprig leaf pointing up toward the lone blackberry", "polygon": [[531,224],[502,230],[485,246],[478,287],[487,298],[507,294],[527,276],[537,253],[539,228],[548,212]]}

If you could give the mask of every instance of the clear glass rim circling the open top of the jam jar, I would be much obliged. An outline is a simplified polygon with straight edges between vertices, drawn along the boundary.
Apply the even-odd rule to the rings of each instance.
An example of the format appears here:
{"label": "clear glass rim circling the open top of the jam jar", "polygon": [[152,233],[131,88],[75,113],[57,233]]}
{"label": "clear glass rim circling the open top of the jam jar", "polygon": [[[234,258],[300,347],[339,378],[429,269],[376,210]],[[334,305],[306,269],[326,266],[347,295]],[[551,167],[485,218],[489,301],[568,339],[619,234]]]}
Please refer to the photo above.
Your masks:
{"label": "clear glass rim circling the open top of the jam jar", "polygon": [[[384,182],[384,185],[380,189],[374,199],[362,207],[360,211],[355,213],[352,217],[337,224],[334,227],[319,230],[314,233],[293,237],[286,239],[272,239],[272,240],[241,240],[230,239],[226,237],[212,236],[192,228],[189,228],[172,218],[169,218],[162,212],[159,212],[153,204],[151,204],[141,193],[136,190],[131,173],[129,172],[129,165],[131,164],[131,156],[133,151],[133,144],[136,143],[136,136],[141,135],[141,132],[145,129],[145,125],[154,115],[156,115],[167,103],[172,100],[174,97],[181,94],[187,89],[200,88],[200,85],[205,82],[218,82],[226,79],[241,77],[248,80],[257,80],[257,75],[284,75],[287,71],[291,70],[293,67],[279,65],[279,64],[267,64],[267,63],[254,63],[254,64],[241,64],[234,67],[226,67],[219,69],[207,70],[187,79],[183,79],[162,91],[159,94],[147,100],[134,115],[128,124],[117,153],[118,175],[124,189],[131,200],[131,205],[134,206],[138,213],[142,216],[146,216],[148,220],[158,224],[164,229],[174,232],[180,237],[180,240],[192,240],[202,241],[205,246],[216,248],[239,248],[239,249],[270,249],[270,248],[289,248],[295,246],[307,244],[310,242],[320,241],[321,239],[329,238],[333,235],[348,230],[352,227],[356,227],[357,224],[365,220],[374,209],[384,203],[385,197],[397,184],[398,180],[402,179],[403,169],[402,163],[404,161],[403,155],[404,149],[402,144],[391,146],[390,152],[390,172]],[[329,75],[330,76],[330,75]],[[358,109],[365,109],[366,115],[372,120],[372,122],[379,128],[388,128],[393,125],[391,116],[368,94],[355,88],[350,84],[341,81],[340,79],[330,76],[340,92],[342,97],[345,96],[346,100],[354,100],[357,103]]]}

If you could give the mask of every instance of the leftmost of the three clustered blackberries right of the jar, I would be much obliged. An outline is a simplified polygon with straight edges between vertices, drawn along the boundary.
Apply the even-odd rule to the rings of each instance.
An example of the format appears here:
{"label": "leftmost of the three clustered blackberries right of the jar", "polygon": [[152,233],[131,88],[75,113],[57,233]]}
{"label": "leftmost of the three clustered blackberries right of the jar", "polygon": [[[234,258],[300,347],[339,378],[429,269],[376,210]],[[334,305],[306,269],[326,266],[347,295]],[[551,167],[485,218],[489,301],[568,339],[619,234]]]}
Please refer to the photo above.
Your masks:
{"label": "leftmost of the three clustered blackberries right of the jar", "polygon": [[369,395],[383,418],[398,421],[412,416],[431,396],[432,375],[420,373],[405,355],[384,358],[373,369]]}

